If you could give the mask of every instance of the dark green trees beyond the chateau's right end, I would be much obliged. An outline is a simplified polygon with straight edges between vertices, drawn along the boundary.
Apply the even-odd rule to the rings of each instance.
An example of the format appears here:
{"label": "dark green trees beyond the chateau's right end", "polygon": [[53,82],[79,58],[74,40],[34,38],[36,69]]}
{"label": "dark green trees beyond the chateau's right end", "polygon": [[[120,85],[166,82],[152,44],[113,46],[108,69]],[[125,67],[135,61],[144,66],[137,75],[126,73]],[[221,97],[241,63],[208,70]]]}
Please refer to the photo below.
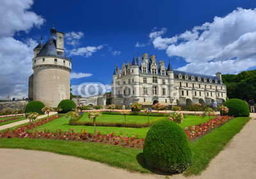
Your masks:
{"label": "dark green trees beyond the chateau's right end", "polygon": [[227,85],[227,96],[231,98],[256,100],[256,69],[242,71],[237,75],[222,75]]}

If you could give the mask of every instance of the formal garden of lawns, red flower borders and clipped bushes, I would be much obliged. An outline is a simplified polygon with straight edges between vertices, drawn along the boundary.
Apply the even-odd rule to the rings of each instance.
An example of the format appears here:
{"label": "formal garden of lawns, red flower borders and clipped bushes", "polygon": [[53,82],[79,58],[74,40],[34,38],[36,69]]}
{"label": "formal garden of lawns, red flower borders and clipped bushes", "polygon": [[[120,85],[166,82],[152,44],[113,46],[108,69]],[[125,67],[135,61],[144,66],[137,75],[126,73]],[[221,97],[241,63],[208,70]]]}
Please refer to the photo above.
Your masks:
{"label": "formal garden of lawns, red flower borders and clipped bushes", "polygon": [[[134,104],[134,113],[111,109],[102,113],[89,111],[79,116],[77,112],[81,109],[74,109],[74,102],[66,99],[58,111],[67,114],[35,120],[38,113],[31,111],[26,115],[31,120],[29,124],[0,132],[0,147],[74,155],[141,173],[159,169],[200,175],[250,120],[247,111],[243,113],[244,109],[237,107],[244,106],[243,101],[230,101],[226,104],[231,112],[224,104],[218,107],[221,111],[218,116],[211,108],[205,108],[200,116],[184,116],[179,106],[173,106],[174,112],[170,114],[151,113],[148,109],[138,113],[140,104]],[[198,108],[197,104],[194,106]],[[156,105],[156,108],[165,107]],[[40,108],[43,113],[53,110],[42,105]],[[237,118],[227,115],[235,112]]]}

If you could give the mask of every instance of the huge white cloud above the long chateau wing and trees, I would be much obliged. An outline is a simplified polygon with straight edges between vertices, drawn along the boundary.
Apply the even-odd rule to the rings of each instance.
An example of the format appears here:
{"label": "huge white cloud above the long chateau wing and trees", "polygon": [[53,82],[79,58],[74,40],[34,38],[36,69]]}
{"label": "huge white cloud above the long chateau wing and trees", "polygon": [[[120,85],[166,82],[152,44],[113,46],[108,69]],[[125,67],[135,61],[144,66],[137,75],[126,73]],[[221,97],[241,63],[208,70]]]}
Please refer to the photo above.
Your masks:
{"label": "huge white cloud above the long chateau wing and trees", "polygon": [[180,68],[214,75],[237,73],[256,63],[256,9],[237,8],[225,17],[214,17],[191,31],[163,38],[166,29],[151,32],[155,48],[170,57],[182,57],[189,64]]}

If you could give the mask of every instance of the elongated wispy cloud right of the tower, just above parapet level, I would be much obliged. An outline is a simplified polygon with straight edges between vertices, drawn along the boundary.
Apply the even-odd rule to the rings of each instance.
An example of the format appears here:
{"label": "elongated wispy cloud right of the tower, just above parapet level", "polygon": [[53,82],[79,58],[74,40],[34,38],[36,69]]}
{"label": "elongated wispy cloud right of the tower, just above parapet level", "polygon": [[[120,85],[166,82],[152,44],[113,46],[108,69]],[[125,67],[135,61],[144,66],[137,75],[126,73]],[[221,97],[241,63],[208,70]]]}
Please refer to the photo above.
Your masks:
{"label": "elongated wispy cloud right of the tower, just above parapet level", "polygon": [[77,49],[73,49],[69,52],[70,55],[81,55],[85,57],[91,57],[93,53],[97,52],[98,50],[102,49],[104,45],[99,45],[98,47],[81,47]]}

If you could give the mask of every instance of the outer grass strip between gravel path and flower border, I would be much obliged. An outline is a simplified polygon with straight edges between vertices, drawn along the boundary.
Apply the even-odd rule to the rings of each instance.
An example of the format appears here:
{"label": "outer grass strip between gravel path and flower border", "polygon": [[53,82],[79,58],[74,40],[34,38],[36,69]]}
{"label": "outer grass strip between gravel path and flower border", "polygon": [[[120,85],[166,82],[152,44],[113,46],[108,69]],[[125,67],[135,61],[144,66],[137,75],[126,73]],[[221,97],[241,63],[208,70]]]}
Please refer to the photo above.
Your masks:
{"label": "outer grass strip between gravel path and flower border", "polygon": [[[191,143],[192,159],[185,175],[200,175],[211,159],[227,145],[234,135],[250,120],[248,117],[237,117],[218,129]],[[123,148],[101,143],[65,140],[38,140],[4,138],[0,140],[0,148],[24,148],[28,150],[42,150],[62,155],[72,155],[102,162],[109,166],[124,168],[140,173],[152,173],[143,163],[142,150]]]}

